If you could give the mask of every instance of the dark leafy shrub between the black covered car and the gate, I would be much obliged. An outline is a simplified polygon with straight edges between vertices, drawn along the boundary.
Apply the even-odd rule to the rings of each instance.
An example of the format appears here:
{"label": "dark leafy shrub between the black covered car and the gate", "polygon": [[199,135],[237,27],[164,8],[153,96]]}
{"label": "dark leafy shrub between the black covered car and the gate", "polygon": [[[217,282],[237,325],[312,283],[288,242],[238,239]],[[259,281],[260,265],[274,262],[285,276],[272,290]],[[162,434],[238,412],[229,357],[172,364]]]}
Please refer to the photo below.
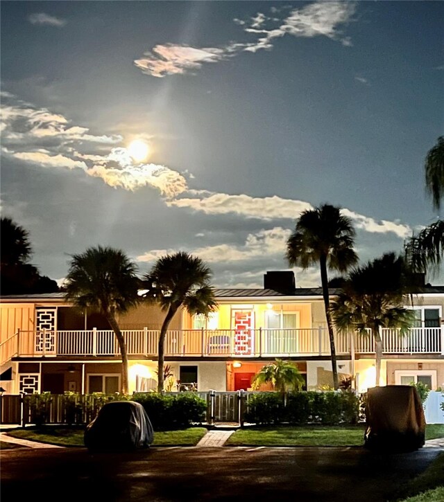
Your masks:
{"label": "dark leafy shrub between the black covered car and the gate", "polygon": [[207,402],[194,393],[162,395],[136,393],[133,400],[144,406],[154,429],[179,429],[205,420]]}

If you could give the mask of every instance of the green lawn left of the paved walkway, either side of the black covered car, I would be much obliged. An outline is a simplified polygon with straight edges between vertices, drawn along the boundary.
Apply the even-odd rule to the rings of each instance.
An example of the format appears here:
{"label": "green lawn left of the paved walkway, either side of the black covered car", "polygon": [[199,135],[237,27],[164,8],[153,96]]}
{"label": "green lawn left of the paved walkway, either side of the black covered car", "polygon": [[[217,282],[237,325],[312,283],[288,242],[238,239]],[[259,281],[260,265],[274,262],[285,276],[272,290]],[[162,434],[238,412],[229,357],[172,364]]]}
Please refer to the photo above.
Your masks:
{"label": "green lawn left of the paved walkway, either side of the black covered car", "polygon": [[[154,433],[153,446],[194,446],[205,436],[207,429],[190,427],[178,431],[162,431]],[[80,447],[83,443],[83,429],[69,427],[46,427],[44,431],[36,429],[17,429],[10,431],[9,436],[31,441],[47,442],[51,445]]]}

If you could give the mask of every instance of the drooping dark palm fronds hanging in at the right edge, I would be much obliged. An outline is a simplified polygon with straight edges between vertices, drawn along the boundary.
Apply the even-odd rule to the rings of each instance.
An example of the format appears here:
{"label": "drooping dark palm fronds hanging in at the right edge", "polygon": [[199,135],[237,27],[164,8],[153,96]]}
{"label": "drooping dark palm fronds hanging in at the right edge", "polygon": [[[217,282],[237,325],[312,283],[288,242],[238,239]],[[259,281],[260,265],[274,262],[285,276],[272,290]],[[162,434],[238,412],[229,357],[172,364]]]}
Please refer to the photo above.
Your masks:
{"label": "drooping dark palm fronds hanging in at the right edge", "polygon": [[[444,195],[444,136],[440,136],[425,157],[425,186],[432,196],[433,206],[441,208],[441,198]],[[406,255],[411,266],[416,271],[438,269],[444,251],[444,222],[438,219],[423,228],[418,235],[407,242]]]}

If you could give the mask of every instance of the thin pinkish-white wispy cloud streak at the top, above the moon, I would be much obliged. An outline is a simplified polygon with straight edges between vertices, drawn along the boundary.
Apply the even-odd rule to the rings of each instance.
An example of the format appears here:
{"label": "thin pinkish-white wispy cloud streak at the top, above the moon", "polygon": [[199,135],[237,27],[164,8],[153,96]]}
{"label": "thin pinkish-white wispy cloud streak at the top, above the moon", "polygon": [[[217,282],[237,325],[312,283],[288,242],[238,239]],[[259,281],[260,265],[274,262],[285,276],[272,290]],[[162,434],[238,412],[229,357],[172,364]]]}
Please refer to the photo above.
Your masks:
{"label": "thin pinkish-white wispy cloud streak at the top, above the moon", "polygon": [[[256,53],[271,49],[275,39],[290,35],[293,37],[323,36],[350,46],[350,37],[341,29],[355,14],[356,3],[344,1],[315,1],[296,8],[287,17],[268,17],[257,12],[248,20],[234,19],[244,32],[256,37],[253,42],[230,42],[219,47],[198,48],[181,44],[158,44],[143,57],[134,61],[135,66],[147,75],[165,77],[184,74],[200,69],[204,63],[215,63],[241,52]],[[279,11],[275,10],[275,15]]]}

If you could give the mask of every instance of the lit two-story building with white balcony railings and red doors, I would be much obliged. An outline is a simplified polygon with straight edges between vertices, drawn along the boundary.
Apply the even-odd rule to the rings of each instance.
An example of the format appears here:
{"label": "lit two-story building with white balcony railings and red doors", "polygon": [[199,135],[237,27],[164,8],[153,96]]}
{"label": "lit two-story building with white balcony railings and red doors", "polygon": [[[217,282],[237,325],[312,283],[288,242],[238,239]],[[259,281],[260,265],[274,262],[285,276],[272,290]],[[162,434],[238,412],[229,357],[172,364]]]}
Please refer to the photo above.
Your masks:
{"label": "lit two-story building with white balcony railings and red doors", "polygon": [[[289,275],[290,274],[290,275]],[[292,273],[270,273],[264,289],[216,289],[218,310],[208,319],[178,312],[165,346],[171,390],[250,388],[257,371],[275,358],[297,364],[307,388],[332,383],[330,343],[320,288],[295,288]],[[332,298],[338,293],[331,289]],[[382,381],[421,381],[444,387],[444,287],[418,287],[416,325],[407,336],[383,329]],[[95,312],[79,310],[62,293],[1,298],[1,386],[8,393],[119,391],[121,359],[114,333]],[[142,302],[119,325],[128,348],[129,390],[157,381],[157,340],[164,312]],[[375,385],[370,336],[336,333],[340,375],[354,375],[359,391]]]}

